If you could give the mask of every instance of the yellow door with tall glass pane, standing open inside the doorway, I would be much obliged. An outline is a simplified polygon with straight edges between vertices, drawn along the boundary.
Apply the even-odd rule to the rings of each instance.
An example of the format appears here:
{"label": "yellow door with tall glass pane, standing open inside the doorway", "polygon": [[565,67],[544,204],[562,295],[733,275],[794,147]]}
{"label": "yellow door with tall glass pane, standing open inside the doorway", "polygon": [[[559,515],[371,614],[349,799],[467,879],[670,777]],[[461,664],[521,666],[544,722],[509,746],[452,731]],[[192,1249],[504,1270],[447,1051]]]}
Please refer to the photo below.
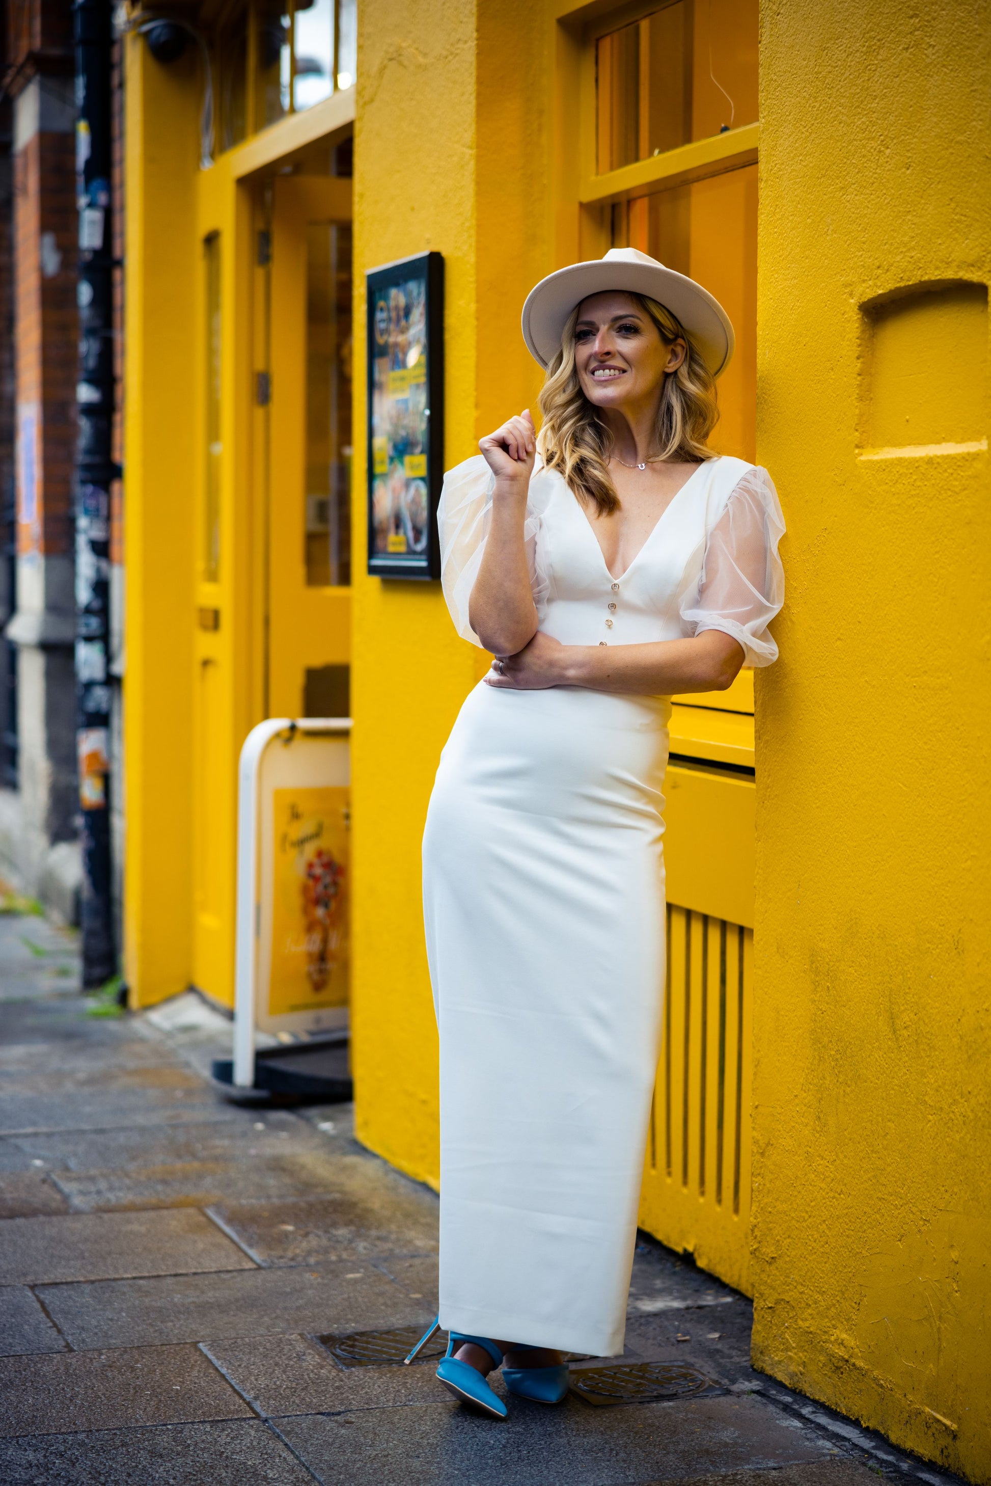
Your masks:
{"label": "yellow door with tall glass pane, standing open inside the doorway", "polygon": [[269,716],[346,716],[351,180],[278,177],[269,291]]}

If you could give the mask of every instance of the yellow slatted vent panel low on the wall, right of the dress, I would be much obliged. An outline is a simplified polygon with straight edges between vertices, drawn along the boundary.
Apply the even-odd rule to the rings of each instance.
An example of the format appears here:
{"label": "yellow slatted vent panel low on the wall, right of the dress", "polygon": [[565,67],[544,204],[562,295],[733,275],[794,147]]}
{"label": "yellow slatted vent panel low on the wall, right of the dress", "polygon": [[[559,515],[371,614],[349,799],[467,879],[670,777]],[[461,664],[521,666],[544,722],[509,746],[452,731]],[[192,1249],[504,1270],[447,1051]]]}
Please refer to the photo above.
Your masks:
{"label": "yellow slatted vent panel low on the wall, right of the dress", "polygon": [[669,903],[640,1226],[750,1293],[753,933]]}

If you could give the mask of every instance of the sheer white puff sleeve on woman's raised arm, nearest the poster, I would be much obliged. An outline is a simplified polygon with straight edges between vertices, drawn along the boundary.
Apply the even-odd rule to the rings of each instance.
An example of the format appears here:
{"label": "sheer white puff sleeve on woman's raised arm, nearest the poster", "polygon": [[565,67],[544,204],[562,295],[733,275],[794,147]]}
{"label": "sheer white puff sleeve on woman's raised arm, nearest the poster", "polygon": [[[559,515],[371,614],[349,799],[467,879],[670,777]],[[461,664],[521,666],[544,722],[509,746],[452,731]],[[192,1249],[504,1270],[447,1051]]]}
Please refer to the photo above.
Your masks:
{"label": "sheer white puff sleeve on woman's raised arm, nearest the poster", "polygon": [[[530,569],[530,588],[538,618],[542,621],[547,609],[550,580],[541,562],[538,535],[542,508],[542,470],[538,465],[530,478],[526,502],[523,541]],[[440,532],[440,581],[444,600],[462,639],[483,649],[481,640],[468,621],[468,600],[478,577],[481,554],[492,520],[492,492],[495,476],[484,458],[475,455],[449,470],[437,507]]]}

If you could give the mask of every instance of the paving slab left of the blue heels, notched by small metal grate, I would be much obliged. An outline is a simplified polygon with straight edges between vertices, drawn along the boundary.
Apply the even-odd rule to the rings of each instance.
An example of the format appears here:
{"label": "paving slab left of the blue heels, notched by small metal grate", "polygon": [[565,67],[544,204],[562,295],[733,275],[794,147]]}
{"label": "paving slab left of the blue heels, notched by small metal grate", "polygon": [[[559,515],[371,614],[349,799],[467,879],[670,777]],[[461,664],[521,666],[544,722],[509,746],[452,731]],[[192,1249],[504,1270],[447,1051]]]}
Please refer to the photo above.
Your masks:
{"label": "paving slab left of the blue heels, notched by small metal grate", "polygon": [[339,1367],[308,1336],[253,1336],[204,1342],[204,1352],[253,1409],[269,1418],[444,1403],[437,1363],[412,1367]]}

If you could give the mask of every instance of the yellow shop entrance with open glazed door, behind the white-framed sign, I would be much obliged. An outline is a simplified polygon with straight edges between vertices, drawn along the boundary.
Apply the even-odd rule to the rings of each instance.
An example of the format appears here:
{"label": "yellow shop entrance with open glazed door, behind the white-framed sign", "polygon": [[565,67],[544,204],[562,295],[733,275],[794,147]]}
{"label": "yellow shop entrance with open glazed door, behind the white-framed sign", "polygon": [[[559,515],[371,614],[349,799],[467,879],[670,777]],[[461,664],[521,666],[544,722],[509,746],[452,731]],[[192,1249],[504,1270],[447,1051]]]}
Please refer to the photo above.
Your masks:
{"label": "yellow shop entrance with open glazed door, behind the white-framed sign", "polygon": [[241,744],[263,718],[351,707],[351,178],[245,190],[202,276],[193,984],[223,1002]]}

